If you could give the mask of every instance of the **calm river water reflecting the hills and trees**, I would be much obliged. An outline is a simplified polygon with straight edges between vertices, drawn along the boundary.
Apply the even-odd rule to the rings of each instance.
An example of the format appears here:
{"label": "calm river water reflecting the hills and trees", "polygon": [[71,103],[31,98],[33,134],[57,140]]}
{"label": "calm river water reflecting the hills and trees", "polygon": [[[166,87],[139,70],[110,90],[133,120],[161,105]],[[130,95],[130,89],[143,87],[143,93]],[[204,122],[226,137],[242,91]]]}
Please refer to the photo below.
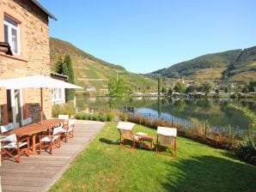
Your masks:
{"label": "calm river water reflecting the hills and trees", "polygon": [[[114,103],[114,101],[113,101]],[[122,100],[112,104],[112,108],[123,110],[126,105],[134,106],[137,112],[148,113],[153,116],[179,117],[187,120],[198,118],[207,120],[213,126],[231,126],[239,129],[251,129],[251,119],[241,110],[232,105],[246,108],[256,112],[255,100],[232,99],[157,99],[157,98],[133,98]],[[107,97],[82,97],[76,99],[78,108],[109,108]]]}

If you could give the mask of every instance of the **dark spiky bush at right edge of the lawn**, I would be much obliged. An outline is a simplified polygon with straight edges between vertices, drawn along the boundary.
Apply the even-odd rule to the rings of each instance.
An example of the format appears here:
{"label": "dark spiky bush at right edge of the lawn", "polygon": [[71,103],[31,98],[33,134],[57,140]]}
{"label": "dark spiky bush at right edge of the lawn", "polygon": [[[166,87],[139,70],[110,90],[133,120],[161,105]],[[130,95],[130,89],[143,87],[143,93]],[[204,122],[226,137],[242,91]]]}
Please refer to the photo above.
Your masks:
{"label": "dark spiky bush at right edge of the lawn", "polygon": [[256,136],[247,141],[241,141],[241,145],[238,148],[238,156],[244,161],[256,165]]}

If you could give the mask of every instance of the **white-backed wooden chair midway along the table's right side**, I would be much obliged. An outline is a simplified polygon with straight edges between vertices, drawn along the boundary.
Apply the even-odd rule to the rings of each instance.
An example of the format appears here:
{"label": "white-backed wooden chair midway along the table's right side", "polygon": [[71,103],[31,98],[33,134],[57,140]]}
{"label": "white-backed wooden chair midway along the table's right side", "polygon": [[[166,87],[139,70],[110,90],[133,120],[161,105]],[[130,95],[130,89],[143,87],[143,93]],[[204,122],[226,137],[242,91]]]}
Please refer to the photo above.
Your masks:
{"label": "white-backed wooden chair midway along the table's right side", "polygon": [[39,135],[40,138],[40,153],[43,148],[50,148],[50,153],[53,153],[53,147],[60,147],[60,135],[62,127],[53,128],[52,135]]}

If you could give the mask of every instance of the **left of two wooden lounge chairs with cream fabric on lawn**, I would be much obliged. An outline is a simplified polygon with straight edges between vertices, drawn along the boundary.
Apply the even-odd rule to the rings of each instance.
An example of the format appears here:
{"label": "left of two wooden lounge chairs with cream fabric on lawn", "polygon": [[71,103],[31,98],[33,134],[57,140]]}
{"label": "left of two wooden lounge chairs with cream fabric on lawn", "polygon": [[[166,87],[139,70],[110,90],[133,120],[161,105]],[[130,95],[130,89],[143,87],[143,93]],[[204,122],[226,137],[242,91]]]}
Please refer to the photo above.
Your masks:
{"label": "left of two wooden lounge chairs with cream fabric on lawn", "polygon": [[134,125],[135,123],[119,122],[117,129],[119,130],[120,134],[120,146],[124,146],[125,141],[131,141],[131,149],[135,148],[136,143],[139,141],[139,136],[135,135],[132,131]]}

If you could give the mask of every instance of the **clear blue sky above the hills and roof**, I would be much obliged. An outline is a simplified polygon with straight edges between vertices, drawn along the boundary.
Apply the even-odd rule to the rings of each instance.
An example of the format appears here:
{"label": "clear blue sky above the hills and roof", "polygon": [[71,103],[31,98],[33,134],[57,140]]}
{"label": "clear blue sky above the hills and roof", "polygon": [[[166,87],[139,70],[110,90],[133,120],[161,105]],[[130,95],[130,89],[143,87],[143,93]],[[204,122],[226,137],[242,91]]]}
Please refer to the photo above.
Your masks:
{"label": "clear blue sky above the hills and roof", "polygon": [[50,36],[135,73],[256,45],[255,0],[40,0]]}

